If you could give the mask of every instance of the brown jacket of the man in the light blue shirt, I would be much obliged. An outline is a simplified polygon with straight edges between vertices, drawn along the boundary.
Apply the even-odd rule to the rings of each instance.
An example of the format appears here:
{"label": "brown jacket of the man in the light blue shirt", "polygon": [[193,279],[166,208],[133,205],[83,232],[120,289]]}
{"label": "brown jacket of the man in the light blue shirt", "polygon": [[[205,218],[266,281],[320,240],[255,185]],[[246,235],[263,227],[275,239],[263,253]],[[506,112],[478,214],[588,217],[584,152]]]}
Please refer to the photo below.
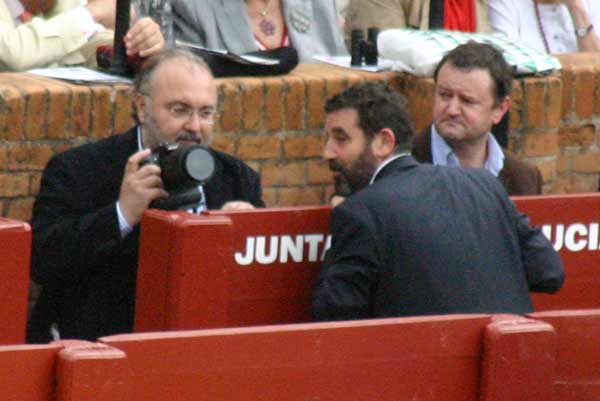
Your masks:
{"label": "brown jacket of the man in the light blue shirt", "polygon": [[[421,163],[432,163],[431,127],[413,138],[412,154]],[[542,175],[536,166],[517,159],[504,150],[504,168],[498,175],[509,195],[539,195],[542,193]]]}

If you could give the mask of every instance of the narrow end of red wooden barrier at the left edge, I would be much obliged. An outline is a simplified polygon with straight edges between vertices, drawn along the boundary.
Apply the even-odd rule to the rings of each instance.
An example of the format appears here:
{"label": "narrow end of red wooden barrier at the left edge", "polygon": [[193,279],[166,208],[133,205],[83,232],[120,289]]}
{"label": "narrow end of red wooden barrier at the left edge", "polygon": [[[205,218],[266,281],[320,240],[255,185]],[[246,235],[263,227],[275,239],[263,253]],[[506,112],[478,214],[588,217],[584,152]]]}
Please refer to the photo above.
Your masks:
{"label": "narrow end of red wooden barrier at the left edge", "polygon": [[0,218],[0,344],[25,342],[30,253],[29,225]]}

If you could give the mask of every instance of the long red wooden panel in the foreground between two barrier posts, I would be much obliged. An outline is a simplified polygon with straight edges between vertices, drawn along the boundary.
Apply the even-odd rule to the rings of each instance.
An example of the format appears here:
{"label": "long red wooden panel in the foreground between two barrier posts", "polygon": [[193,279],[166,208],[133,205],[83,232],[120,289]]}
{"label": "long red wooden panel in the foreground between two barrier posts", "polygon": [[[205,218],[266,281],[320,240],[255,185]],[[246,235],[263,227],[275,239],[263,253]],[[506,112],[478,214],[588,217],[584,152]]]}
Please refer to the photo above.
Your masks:
{"label": "long red wooden panel in the foreground between two barrier posts", "polygon": [[[135,400],[476,401],[489,321],[429,316],[100,341],[127,354]],[[513,400],[525,399],[520,391]]]}

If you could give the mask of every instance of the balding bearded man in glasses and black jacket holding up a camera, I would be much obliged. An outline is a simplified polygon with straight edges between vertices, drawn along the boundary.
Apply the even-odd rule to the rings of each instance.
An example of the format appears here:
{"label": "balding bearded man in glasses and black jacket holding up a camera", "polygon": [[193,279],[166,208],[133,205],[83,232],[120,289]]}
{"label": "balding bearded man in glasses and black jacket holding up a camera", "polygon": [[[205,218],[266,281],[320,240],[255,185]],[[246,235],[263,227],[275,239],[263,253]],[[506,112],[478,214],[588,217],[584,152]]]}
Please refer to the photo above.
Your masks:
{"label": "balding bearded man in glasses and black jacket holding up a camera", "polygon": [[[53,157],[33,209],[32,277],[42,294],[28,341],[93,340],[133,328],[139,222],[168,194],[160,167],[141,164],[156,145],[209,145],[217,87],[206,64],[167,50],[136,78],[139,124]],[[215,173],[201,208],[264,206],[259,177],[242,161],[212,151]],[[202,246],[202,244],[198,244]]]}

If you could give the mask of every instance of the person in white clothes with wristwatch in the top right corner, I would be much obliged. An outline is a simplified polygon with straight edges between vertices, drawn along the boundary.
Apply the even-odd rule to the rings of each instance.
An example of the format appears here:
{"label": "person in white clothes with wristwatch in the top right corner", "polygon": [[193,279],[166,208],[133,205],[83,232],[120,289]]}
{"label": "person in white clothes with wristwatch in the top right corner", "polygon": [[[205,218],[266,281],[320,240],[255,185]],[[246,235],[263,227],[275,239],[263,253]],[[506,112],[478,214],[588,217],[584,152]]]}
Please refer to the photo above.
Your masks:
{"label": "person in white clothes with wristwatch in the top right corner", "polygon": [[489,0],[492,29],[546,53],[600,51],[597,0]]}

